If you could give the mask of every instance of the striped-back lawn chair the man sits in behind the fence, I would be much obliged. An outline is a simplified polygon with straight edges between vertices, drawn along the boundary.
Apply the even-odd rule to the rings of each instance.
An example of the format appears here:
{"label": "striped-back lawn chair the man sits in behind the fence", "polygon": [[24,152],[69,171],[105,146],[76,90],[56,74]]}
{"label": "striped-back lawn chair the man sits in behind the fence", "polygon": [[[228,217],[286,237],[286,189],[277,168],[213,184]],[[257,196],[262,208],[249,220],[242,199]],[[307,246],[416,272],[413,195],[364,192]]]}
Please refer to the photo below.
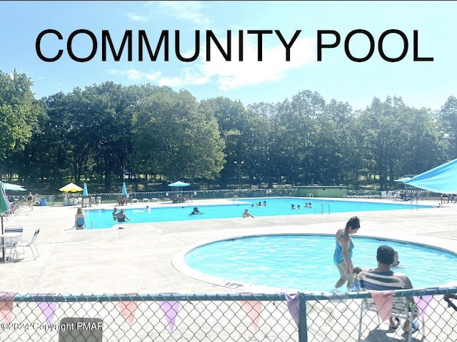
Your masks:
{"label": "striped-back lawn chair the man sits in behind the fence", "polygon": [[[366,271],[361,271],[361,273],[358,274],[358,277],[360,279],[361,283],[361,290],[362,291],[370,291],[372,298],[363,298],[363,301],[361,303],[361,310],[360,310],[360,321],[358,324],[358,341],[363,341],[361,339],[362,337],[362,321],[363,317],[365,316],[364,313],[368,311],[372,311],[376,313],[376,316],[378,318],[378,324],[376,328],[381,326],[381,320],[378,316],[378,308],[376,308],[376,303],[373,300],[373,293],[376,293],[377,291],[395,291],[395,290],[401,290],[405,288],[405,284],[400,278],[397,278],[395,276],[382,276],[380,274],[376,273],[370,273]],[[393,296],[393,303],[392,303],[392,316],[397,318],[398,322],[398,331],[401,330],[401,325],[403,325],[403,322],[401,322],[401,318],[403,320],[408,320],[411,322],[410,326],[413,326],[413,316],[414,312],[411,310],[410,312],[410,301],[411,298],[402,296],[402,297],[396,297]],[[373,317],[372,317],[373,319]],[[418,319],[418,318],[417,318]],[[412,333],[412,328],[408,331],[407,335],[407,341],[411,342],[411,333]],[[424,321],[422,318],[422,335],[423,338],[425,338],[425,326],[424,326]]]}

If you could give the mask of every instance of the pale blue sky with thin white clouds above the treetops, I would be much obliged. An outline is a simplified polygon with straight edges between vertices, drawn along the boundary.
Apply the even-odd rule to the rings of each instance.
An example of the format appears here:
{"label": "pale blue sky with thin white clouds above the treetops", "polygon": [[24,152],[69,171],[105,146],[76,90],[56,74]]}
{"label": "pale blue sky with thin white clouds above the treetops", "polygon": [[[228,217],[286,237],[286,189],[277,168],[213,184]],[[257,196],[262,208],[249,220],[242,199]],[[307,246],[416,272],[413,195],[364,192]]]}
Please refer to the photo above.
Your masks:
{"label": "pale blue sky with thin white clouds above the treetops", "polygon": [[[276,102],[298,91],[311,90],[330,101],[348,102],[353,109],[364,109],[373,97],[401,96],[409,106],[440,109],[448,96],[457,96],[457,2],[455,1],[0,1],[0,70],[25,73],[34,82],[36,98],[75,87],[114,81],[116,84],[146,84],[187,89],[197,99],[226,96],[243,104]],[[63,40],[47,34],[41,51],[57,61],[42,61],[36,52],[41,31],[59,31]],[[76,30],[91,31],[98,47],[93,59],[77,62],[69,57],[66,41]],[[345,54],[349,32],[363,29],[375,40],[375,51],[368,61],[356,63]],[[408,39],[403,60],[390,63],[378,54],[378,39],[389,29],[402,31]],[[101,59],[101,31],[108,30],[116,49],[125,31],[133,34],[133,60],[126,51],[120,61],[108,54]],[[138,59],[138,32],[146,31],[153,49],[162,31],[169,30],[169,61],[164,51],[157,61],[147,54]],[[192,56],[194,34],[200,31],[199,59],[179,61],[174,49],[174,32],[181,36],[180,51]],[[226,48],[227,31],[232,32],[232,61],[225,61],[211,46],[206,61],[206,30],[211,30]],[[243,61],[238,61],[238,30],[243,30]],[[248,30],[279,30],[289,41],[301,30],[291,46],[291,61],[276,34],[263,36],[263,61],[257,61],[258,41]],[[318,30],[337,31],[341,43],[323,49],[317,61]],[[413,61],[413,31],[418,31],[418,56],[434,61]],[[334,42],[323,36],[324,44]],[[89,56],[92,43],[78,34],[72,49],[80,58]],[[368,53],[368,38],[354,35],[349,51],[361,58]],[[389,34],[384,53],[398,57],[403,41]]]}

